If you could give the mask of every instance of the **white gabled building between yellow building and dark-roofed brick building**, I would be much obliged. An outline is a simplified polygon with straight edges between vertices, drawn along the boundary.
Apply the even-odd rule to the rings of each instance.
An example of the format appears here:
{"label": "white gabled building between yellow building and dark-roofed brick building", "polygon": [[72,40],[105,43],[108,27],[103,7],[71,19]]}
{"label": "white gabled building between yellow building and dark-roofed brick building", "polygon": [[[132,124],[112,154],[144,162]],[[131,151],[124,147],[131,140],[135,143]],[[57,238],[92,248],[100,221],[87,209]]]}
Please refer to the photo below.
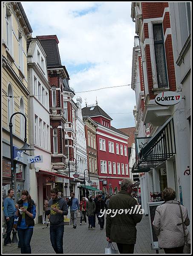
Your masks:
{"label": "white gabled building between yellow building and dark-roofed brick building", "polygon": [[30,164],[30,194],[35,201],[36,219],[41,222],[44,210],[43,198],[50,197],[49,186],[46,185],[46,175],[40,175],[39,170],[52,172],[50,149],[50,112],[49,91],[51,87],[48,81],[46,52],[37,38],[27,41],[28,61],[28,90],[29,96],[29,142],[35,151],[33,156],[40,156],[40,161]]}

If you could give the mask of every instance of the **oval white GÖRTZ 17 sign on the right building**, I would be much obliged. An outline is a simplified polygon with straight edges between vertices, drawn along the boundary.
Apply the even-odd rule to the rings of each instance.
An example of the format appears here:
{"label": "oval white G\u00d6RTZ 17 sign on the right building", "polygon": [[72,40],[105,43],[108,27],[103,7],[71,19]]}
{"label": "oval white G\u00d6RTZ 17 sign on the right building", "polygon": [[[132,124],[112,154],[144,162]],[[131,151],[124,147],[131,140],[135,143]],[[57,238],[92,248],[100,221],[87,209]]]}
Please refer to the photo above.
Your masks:
{"label": "oval white G\u00d6RTZ 17 sign on the right building", "polygon": [[155,102],[161,106],[172,106],[172,105],[176,105],[177,103],[179,103],[181,101],[181,99],[182,98],[179,93],[163,92],[163,93],[159,93],[156,96]]}

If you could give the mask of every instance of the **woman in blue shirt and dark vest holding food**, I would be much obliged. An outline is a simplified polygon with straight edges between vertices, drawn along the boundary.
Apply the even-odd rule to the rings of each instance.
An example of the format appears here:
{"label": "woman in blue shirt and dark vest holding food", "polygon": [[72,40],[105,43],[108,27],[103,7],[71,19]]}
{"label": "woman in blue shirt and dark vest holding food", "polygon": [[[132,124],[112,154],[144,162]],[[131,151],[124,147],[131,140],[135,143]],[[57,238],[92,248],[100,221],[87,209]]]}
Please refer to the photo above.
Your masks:
{"label": "woman in blue shirt and dark vest holding food", "polygon": [[16,208],[15,215],[19,217],[17,221],[17,234],[20,241],[21,253],[31,254],[30,241],[35,226],[36,208],[27,190],[21,192],[21,200],[17,202]]}

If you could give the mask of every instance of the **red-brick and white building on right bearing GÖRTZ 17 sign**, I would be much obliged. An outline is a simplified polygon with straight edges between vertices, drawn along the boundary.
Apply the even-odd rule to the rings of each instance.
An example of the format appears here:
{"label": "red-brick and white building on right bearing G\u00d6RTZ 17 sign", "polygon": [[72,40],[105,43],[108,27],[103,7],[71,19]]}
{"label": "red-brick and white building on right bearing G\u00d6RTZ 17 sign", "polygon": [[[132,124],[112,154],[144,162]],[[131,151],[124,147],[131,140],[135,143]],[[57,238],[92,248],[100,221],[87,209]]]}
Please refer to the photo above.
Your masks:
{"label": "red-brick and white building on right bearing G\u00d6RTZ 17 sign", "polygon": [[[139,36],[135,37],[138,45],[134,47],[132,70],[136,102],[141,79],[134,79],[141,69],[144,89],[144,107],[140,113],[134,111],[138,137],[132,172],[144,173],[140,182],[145,214],[147,202],[161,200],[160,192],[172,187],[190,216],[190,12],[188,3],[132,3],[131,17]],[[141,63],[138,58],[137,64],[140,55]],[[173,105],[169,102],[173,98],[164,98],[167,103],[158,105],[156,96],[164,97],[166,92],[177,92],[178,99],[183,99]]]}

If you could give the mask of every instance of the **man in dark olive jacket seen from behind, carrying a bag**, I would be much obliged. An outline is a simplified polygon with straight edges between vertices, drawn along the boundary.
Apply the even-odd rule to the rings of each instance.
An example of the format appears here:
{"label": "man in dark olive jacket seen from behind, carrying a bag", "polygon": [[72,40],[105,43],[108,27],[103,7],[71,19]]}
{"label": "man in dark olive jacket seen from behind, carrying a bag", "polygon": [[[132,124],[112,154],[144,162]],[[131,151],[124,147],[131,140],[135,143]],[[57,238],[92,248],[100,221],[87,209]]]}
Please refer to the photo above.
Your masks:
{"label": "man in dark olive jacket seen from behind, carrying a bag", "polygon": [[[133,191],[133,184],[130,179],[121,181],[121,190],[118,194],[113,195],[109,201],[109,209],[114,212],[117,209],[122,214],[107,214],[106,222],[106,236],[107,241],[116,242],[119,252],[134,253],[134,246],[136,242],[136,224],[141,221],[142,214],[133,211],[125,213],[125,209],[136,209],[138,206],[137,201],[131,196]],[[136,205],[136,207],[135,207]],[[138,206],[139,208],[139,206]],[[108,209],[108,210],[109,210]],[[123,209],[123,210],[121,210]],[[114,216],[114,217],[111,217]]]}

